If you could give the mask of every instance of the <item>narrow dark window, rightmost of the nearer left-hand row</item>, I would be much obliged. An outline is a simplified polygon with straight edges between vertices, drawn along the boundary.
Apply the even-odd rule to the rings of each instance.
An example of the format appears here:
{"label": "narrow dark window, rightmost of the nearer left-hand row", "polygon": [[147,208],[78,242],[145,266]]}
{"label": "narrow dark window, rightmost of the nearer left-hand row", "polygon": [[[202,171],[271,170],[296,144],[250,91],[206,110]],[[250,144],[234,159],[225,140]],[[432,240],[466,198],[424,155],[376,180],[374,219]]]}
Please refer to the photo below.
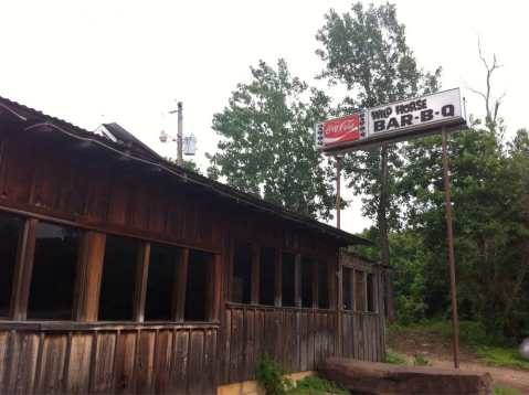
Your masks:
{"label": "narrow dark window, rightmost of the nearer left-hand row", "polygon": [[213,257],[213,254],[210,253],[193,249],[189,252],[186,321],[207,321],[209,319]]}

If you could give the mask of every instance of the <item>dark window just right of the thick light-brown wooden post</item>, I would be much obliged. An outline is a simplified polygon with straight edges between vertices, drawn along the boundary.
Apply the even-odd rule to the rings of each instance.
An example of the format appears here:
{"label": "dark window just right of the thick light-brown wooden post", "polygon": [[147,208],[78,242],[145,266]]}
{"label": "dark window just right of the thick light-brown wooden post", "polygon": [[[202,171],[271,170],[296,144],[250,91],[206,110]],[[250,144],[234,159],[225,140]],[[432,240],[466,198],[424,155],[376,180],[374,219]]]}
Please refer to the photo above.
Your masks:
{"label": "dark window just right of the thick light-brown wooden post", "polygon": [[140,242],[108,235],[99,295],[99,320],[128,321],[133,319],[136,268]]}

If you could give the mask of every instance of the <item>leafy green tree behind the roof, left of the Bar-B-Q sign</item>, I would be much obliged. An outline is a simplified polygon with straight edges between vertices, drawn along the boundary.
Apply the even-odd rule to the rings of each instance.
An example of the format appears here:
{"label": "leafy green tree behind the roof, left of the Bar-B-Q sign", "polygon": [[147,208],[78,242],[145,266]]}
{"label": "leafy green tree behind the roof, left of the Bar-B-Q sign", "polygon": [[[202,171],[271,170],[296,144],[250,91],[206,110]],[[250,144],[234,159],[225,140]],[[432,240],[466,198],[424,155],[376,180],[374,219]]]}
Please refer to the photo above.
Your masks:
{"label": "leafy green tree behind the roof, left of the Bar-B-Q sign", "polygon": [[261,61],[251,73],[252,81],[239,84],[228,107],[213,116],[221,141],[209,156],[208,173],[295,212],[329,218],[332,169],[315,150],[311,132],[329,98],[293,77],[284,60],[277,68]]}

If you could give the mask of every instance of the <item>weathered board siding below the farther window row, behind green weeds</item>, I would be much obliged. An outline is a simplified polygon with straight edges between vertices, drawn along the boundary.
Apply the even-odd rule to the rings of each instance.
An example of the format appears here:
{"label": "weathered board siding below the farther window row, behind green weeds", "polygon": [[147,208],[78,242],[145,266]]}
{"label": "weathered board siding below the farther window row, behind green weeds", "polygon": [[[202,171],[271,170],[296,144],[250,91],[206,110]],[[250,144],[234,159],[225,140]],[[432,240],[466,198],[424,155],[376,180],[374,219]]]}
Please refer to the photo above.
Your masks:
{"label": "weathered board siding below the farther window row, behind green weeds", "polygon": [[301,372],[337,353],[336,311],[231,305],[225,314],[222,383],[254,378],[261,355]]}

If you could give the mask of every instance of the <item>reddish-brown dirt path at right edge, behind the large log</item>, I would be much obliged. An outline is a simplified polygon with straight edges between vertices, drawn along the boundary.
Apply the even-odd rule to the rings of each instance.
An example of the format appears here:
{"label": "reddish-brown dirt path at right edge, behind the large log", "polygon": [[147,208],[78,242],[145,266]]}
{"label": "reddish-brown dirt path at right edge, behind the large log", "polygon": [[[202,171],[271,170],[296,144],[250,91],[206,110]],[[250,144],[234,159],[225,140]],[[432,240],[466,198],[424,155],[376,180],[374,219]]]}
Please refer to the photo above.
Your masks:
{"label": "reddish-brown dirt path at right edge, behind the large log", "polygon": [[[420,331],[406,331],[401,333],[391,333],[388,337],[388,346],[401,354],[412,357],[416,353],[422,353],[433,366],[452,369],[452,344],[432,333]],[[489,366],[479,361],[472,349],[461,348],[461,369],[474,372],[488,372],[493,376],[495,384],[510,386],[520,389],[523,394],[529,394],[529,372],[521,369]]]}

